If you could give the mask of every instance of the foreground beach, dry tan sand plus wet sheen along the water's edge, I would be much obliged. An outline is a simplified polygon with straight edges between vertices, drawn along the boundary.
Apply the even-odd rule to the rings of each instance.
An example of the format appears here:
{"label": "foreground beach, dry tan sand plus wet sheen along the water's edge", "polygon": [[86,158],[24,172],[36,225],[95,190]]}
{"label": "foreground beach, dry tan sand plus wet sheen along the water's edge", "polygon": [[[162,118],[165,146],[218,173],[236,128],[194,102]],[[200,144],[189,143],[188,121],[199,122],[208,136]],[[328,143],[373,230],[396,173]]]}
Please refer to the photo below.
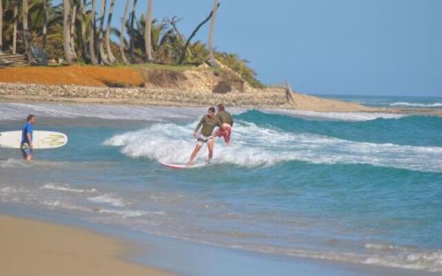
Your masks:
{"label": "foreground beach, dry tan sand plus wet sheen along the water's edge", "polygon": [[[7,207],[6,212],[2,211],[0,213],[0,234],[3,239],[12,232],[8,231],[6,232],[8,235],[5,235],[5,228],[15,228],[12,234],[15,237],[12,237],[12,239],[8,237],[8,243],[2,241],[2,245],[4,244],[5,246],[0,248],[0,257],[2,257],[0,259],[0,266],[5,268],[3,271],[8,272],[8,275],[32,275],[36,271],[48,276],[265,276],[272,274],[293,275],[294,271],[297,271],[300,275],[318,276],[436,275],[436,273],[425,270],[356,264],[352,262],[334,262],[310,257],[274,255],[225,248],[223,246],[191,242],[173,237],[138,233],[135,230],[122,230],[119,227],[109,228],[107,224],[81,222],[81,220],[77,221],[77,219],[70,221],[68,219],[70,215],[61,218],[46,211],[27,211],[27,208],[23,206],[13,211],[12,209],[17,207],[10,209],[11,207]],[[20,226],[28,227],[25,229],[21,227],[20,229]],[[41,232],[41,227],[46,232]],[[32,229],[32,235],[27,235],[25,239],[17,239],[17,236],[21,233],[29,233],[28,229]],[[46,238],[51,235],[61,238],[61,243],[48,244]],[[37,236],[38,239],[33,239],[29,243],[30,237],[36,238]],[[75,240],[72,239],[73,237]],[[20,246],[17,246],[18,250],[15,248],[11,250],[9,245],[15,242],[18,242]],[[39,252],[38,258],[32,258],[32,256],[35,256],[33,253],[37,252],[37,250],[32,250],[32,246],[35,244],[37,244],[38,249],[45,249],[44,246],[48,246],[50,252],[48,254],[46,252]],[[96,255],[95,253],[98,251],[97,244],[101,244],[106,249],[111,248],[111,253],[106,251],[101,256]],[[93,245],[93,248],[88,250],[88,246],[91,245]],[[73,248],[71,246],[81,247],[81,252],[78,255],[73,254],[70,252]],[[99,248],[99,250],[101,249]],[[16,252],[19,252],[19,256],[15,254]],[[193,254],[189,255],[189,252]],[[3,258],[3,256],[8,258]],[[15,258],[16,256],[17,258]],[[26,259],[29,256],[31,258]],[[66,260],[68,260],[67,266],[63,267],[66,264],[64,262]],[[38,262],[38,264],[32,263],[32,261]],[[23,262],[26,262],[26,267],[20,266],[20,270],[7,270],[14,268],[13,266],[17,267]],[[3,263],[8,263],[8,266],[3,265]],[[46,269],[49,270],[43,270],[45,264],[48,265]],[[91,268],[91,270],[84,270],[88,268]],[[175,271],[175,273],[170,273],[169,271]]]}

